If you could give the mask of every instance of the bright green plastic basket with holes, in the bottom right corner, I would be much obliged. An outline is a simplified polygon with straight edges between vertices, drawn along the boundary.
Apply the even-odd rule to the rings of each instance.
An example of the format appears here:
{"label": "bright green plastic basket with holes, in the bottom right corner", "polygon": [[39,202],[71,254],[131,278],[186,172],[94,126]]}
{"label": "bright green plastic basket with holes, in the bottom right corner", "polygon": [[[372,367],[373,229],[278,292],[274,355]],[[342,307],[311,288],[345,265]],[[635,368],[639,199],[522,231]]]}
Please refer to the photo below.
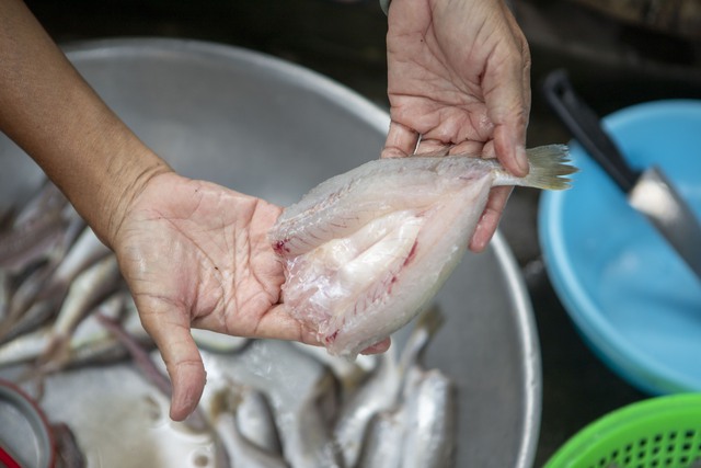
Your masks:
{"label": "bright green plastic basket with holes, in the bottom right corner", "polygon": [[651,398],[613,411],[563,445],[545,468],[701,467],[701,393]]}

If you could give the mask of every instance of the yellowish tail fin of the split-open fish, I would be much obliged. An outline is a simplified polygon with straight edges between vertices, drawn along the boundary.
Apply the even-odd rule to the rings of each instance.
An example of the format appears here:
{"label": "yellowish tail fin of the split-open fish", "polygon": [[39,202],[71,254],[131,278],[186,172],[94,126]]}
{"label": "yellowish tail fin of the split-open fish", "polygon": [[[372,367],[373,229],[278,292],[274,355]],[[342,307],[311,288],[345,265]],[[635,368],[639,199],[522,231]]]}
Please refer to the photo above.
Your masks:
{"label": "yellowish tail fin of the split-open fish", "polygon": [[571,164],[566,145],[547,145],[526,150],[530,171],[528,175],[516,181],[517,185],[543,190],[570,189],[570,175],[578,171]]}

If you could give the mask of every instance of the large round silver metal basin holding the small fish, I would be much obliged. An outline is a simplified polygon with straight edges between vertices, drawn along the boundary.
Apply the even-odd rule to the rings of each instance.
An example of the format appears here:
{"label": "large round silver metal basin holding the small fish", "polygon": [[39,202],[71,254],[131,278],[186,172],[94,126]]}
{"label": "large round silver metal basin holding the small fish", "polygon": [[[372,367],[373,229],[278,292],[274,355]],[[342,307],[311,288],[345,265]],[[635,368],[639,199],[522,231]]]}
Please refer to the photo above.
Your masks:
{"label": "large round silver metal basin holding the small fish", "polygon": [[[177,171],[280,205],[377,158],[389,124],[382,110],[349,90],[249,50],[119,39],[67,52],[108,105]],[[4,138],[0,163],[2,206],[36,187],[38,170]],[[444,369],[458,386],[457,466],[530,467],[540,422],[540,352],[521,277],[498,233],[485,253],[463,260],[437,301],[447,322],[427,365]],[[118,379],[113,375],[99,384],[91,377],[91,385]],[[48,390],[49,416],[66,418],[66,408],[80,411],[74,393]],[[95,413],[80,421],[118,421],[111,414],[116,401],[99,402],[110,395],[92,395]],[[118,443],[119,434],[113,436]],[[130,457],[138,453],[131,450]]]}

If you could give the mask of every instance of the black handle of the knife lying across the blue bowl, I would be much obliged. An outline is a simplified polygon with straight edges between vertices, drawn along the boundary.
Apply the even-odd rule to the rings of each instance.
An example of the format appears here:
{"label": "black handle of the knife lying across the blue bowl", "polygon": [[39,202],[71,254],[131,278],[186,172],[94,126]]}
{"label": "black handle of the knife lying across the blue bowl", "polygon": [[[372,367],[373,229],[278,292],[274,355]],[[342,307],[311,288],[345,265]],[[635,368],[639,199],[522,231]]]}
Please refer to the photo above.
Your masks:
{"label": "black handle of the knife lying across the blue bowl", "polygon": [[601,127],[599,117],[577,95],[565,70],[552,71],[543,83],[545,99],[582,147],[624,193],[637,181],[640,172],[633,170],[620,150]]}

